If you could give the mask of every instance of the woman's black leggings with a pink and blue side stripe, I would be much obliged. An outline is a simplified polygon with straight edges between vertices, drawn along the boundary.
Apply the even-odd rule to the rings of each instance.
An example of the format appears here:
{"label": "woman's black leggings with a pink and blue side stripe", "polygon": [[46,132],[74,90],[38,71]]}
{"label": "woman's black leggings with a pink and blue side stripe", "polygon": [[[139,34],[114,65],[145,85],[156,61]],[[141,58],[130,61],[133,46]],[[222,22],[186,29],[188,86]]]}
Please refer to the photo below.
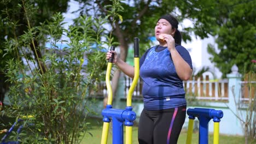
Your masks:
{"label": "woman's black leggings with a pink and blue side stripe", "polygon": [[155,111],[143,109],[139,117],[138,142],[176,144],[185,121],[186,109],[187,106]]}

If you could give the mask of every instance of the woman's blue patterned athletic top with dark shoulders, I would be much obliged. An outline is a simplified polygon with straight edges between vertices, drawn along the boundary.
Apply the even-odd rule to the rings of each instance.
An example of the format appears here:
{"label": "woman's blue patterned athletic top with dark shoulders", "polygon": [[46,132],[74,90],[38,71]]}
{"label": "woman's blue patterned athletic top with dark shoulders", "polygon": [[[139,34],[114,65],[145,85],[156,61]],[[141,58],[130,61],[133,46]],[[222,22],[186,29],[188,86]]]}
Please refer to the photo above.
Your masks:
{"label": "woman's blue patterned athletic top with dark shoulders", "polygon": [[[177,45],[176,50],[192,69],[189,52],[181,45]],[[139,63],[145,109],[162,110],[187,104],[183,81],[176,73],[167,47],[152,47],[144,53]]]}

